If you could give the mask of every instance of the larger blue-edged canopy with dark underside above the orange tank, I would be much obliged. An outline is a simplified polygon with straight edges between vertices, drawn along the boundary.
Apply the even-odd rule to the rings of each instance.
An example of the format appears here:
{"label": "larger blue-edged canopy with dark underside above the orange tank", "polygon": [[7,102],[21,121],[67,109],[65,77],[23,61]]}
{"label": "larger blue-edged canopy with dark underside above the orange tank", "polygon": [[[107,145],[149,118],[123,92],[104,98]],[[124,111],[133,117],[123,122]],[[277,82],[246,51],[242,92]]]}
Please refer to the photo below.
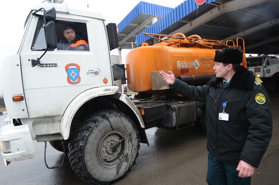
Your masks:
{"label": "larger blue-edged canopy with dark underside above the orange tank", "polygon": [[[182,7],[190,5],[190,1],[195,2],[185,1],[143,32],[157,30],[157,33],[170,35],[180,32],[186,36],[198,34],[202,38],[216,40],[243,37],[246,53],[279,54],[279,0],[207,0],[207,4],[196,9],[191,4],[192,12],[186,14],[187,11],[184,11],[183,16],[179,15]],[[165,27],[159,26],[163,19],[176,16],[172,12],[179,12],[177,17],[180,19]],[[157,28],[153,28],[155,26]],[[137,45],[144,41],[153,44],[153,40],[142,36],[142,33],[136,38]]]}

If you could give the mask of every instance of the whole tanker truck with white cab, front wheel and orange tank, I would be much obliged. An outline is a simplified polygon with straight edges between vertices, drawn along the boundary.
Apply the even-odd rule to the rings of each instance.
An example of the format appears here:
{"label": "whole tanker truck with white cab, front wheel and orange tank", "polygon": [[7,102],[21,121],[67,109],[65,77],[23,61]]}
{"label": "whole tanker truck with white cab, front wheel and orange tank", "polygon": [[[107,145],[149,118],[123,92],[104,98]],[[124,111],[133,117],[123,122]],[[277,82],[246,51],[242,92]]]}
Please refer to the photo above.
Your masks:
{"label": "whole tanker truck with white cab, front wheel and orange tank", "polygon": [[[67,49],[63,28],[68,24],[82,35],[87,50]],[[132,50],[124,67],[110,56],[118,47],[116,30],[88,8],[43,3],[30,12],[18,53],[1,68],[8,112],[0,129],[5,165],[33,158],[33,141],[49,142],[67,154],[82,180],[107,184],[131,169],[140,143],[148,144],[145,129],[205,127],[204,104],[172,92],[159,72],[173,71],[190,84],[205,84],[215,76],[215,51],[241,49],[244,40],[235,44],[146,33],[157,43]],[[137,92],[133,100],[122,92],[126,82]]]}

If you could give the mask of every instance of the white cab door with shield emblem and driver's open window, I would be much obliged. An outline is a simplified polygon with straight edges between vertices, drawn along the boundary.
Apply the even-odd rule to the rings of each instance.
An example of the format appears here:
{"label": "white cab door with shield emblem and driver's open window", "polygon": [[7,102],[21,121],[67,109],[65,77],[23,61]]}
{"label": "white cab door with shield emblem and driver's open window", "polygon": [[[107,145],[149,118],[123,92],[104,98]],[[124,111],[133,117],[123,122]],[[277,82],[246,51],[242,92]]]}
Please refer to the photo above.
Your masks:
{"label": "white cab door with shield emblem and driver's open window", "polygon": [[[61,34],[63,25],[67,23],[71,23],[76,35],[82,35],[82,39],[88,43],[87,51],[81,48],[75,50],[75,45],[71,45],[71,50],[66,49],[68,42]],[[30,118],[63,115],[75,97],[87,89],[103,85],[100,80],[97,47],[107,53],[108,57],[103,58],[110,63],[108,47],[101,47],[95,41],[97,35],[93,35],[94,21],[85,17],[82,21],[56,21],[60,48],[48,51],[40,60],[40,65],[32,66],[31,60],[39,58],[46,49],[43,24],[43,17],[33,17],[20,53],[24,95]],[[107,40],[105,28],[103,32],[104,36],[98,36]]]}

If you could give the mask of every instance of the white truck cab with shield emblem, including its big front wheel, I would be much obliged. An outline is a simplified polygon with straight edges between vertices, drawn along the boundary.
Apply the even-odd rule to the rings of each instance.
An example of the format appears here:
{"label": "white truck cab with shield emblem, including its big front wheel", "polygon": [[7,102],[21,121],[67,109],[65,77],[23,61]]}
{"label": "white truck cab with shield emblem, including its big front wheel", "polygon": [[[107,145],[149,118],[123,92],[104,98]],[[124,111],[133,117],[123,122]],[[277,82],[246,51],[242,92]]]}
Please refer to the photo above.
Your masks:
{"label": "white truck cab with shield emblem, including its big front wheel", "polygon": [[[58,49],[66,44],[65,24],[84,35],[89,51]],[[5,165],[33,158],[37,140],[68,150],[73,170],[90,184],[110,183],[130,170],[139,142],[148,141],[140,112],[114,82],[123,75],[111,61],[117,47],[116,25],[106,26],[87,8],[43,3],[30,12],[18,53],[2,65]]]}

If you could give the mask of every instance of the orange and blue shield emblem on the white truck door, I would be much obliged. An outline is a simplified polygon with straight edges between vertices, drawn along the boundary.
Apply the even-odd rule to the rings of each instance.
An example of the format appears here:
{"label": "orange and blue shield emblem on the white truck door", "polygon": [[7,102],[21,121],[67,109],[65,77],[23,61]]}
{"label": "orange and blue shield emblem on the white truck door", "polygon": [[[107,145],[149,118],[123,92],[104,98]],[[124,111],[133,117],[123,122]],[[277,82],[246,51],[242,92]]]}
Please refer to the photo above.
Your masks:
{"label": "orange and blue shield emblem on the white truck door", "polygon": [[67,64],[65,66],[65,71],[67,73],[67,82],[72,85],[76,85],[81,81],[80,77],[80,66],[78,64]]}

